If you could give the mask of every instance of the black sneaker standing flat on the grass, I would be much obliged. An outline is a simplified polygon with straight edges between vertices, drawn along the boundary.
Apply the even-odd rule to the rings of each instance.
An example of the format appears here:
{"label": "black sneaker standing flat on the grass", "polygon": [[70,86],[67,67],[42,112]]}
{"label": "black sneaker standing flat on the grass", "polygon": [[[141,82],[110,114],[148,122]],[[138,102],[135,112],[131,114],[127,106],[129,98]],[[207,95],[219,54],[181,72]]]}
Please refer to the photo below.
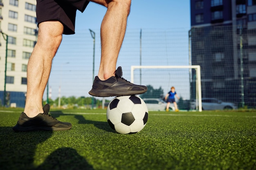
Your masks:
{"label": "black sneaker standing flat on the grass", "polygon": [[22,112],[19,120],[12,129],[15,132],[21,131],[36,131],[36,130],[70,130],[72,125],[68,122],[61,122],[48,115],[50,105],[46,104],[43,107],[44,113],[39,113],[36,117],[27,117],[26,113]]}

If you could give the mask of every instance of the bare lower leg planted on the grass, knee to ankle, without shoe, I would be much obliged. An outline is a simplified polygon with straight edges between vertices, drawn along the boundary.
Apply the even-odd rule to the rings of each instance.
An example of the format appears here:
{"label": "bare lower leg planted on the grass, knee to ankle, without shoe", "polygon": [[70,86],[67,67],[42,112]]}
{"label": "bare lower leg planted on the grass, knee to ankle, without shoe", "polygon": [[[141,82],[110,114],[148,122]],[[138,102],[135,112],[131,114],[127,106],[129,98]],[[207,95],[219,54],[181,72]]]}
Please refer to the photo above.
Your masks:
{"label": "bare lower leg planted on the grass, knee to ankle, without shoe", "polygon": [[57,21],[39,24],[38,41],[27,65],[27,99],[24,112],[28,117],[43,113],[42,99],[49,79],[52,59],[61,44],[63,25]]}

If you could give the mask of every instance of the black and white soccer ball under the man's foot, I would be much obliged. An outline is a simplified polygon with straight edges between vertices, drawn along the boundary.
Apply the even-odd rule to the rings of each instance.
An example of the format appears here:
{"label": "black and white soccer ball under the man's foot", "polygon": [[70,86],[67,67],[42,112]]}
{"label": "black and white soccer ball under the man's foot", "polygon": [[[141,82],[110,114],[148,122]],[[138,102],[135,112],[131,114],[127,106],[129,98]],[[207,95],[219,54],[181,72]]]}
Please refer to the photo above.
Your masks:
{"label": "black and white soccer ball under the man's foot", "polygon": [[107,120],[110,127],[118,133],[137,133],[148,121],[148,108],[138,96],[115,97],[108,105]]}

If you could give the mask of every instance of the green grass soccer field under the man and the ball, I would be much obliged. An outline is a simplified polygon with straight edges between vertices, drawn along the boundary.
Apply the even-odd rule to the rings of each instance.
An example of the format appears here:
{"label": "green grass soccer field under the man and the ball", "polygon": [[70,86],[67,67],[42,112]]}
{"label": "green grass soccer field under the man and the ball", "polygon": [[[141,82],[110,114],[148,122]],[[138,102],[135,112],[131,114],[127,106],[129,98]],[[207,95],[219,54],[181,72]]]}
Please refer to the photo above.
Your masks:
{"label": "green grass soccer field under the man and the ball", "polygon": [[13,132],[0,108],[0,170],[256,170],[256,111],[150,112],[121,135],[106,110],[51,110],[68,131]]}

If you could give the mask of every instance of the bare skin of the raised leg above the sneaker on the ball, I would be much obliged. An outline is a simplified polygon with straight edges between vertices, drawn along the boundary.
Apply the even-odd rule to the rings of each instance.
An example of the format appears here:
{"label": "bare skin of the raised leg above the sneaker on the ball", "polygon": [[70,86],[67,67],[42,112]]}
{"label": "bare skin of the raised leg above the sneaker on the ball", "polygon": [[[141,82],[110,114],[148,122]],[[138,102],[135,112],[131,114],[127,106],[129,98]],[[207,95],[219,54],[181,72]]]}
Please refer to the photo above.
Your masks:
{"label": "bare skin of the raised leg above the sneaker on the ball", "polygon": [[114,76],[117,57],[126,32],[131,0],[91,0],[108,7],[101,23],[101,63],[98,77],[106,80]]}

